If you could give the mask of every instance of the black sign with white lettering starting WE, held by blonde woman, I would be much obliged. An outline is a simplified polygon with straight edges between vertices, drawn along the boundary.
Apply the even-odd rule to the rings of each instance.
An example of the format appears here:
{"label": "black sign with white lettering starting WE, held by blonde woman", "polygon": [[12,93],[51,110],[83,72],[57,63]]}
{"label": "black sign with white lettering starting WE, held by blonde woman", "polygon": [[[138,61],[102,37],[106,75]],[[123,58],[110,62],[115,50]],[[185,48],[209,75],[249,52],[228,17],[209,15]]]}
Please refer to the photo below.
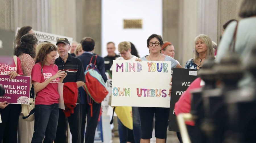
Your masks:
{"label": "black sign with white lettering starting WE, held by blonde woman", "polygon": [[197,70],[174,68],[172,72],[172,93],[170,101],[169,131],[179,131],[174,106],[179,97],[197,78]]}

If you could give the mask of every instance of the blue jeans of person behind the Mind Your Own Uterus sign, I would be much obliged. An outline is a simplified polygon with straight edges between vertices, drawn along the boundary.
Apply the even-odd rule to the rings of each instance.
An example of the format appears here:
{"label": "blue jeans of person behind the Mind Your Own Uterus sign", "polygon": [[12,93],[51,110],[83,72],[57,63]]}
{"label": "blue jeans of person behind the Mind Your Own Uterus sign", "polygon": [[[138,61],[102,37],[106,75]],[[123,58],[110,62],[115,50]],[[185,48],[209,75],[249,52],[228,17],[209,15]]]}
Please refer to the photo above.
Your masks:
{"label": "blue jeans of person behind the Mind Your Own Uterus sign", "polygon": [[[132,107],[133,111],[133,137],[134,142],[139,143],[141,140],[141,121],[138,107]],[[127,142],[128,128],[123,125],[123,123],[117,118],[118,121],[118,133],[120,143]]]}

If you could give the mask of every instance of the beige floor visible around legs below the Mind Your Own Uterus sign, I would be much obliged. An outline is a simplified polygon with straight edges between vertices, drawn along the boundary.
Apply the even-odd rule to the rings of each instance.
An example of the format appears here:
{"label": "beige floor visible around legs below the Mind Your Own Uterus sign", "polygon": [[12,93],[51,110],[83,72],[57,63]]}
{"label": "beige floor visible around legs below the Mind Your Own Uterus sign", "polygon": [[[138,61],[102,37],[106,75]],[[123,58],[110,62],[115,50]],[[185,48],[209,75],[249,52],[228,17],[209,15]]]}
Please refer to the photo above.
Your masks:
{"label": "beige floor visible around legs below the Mind Your Own Uterus sign", "polygon": [[[156,138],[154,136],[155,135],[154,135],[154,130],[153,130],[153,135],[152,135],[152,138],[150,140],[151,143],[156,142]],[[110,141],[110,143],[119,143],[119,138],[118,137],[113,137],[112,141]],[[167,131],[166,143],[179,143],[179,140],[176,136],[176,132]]]}

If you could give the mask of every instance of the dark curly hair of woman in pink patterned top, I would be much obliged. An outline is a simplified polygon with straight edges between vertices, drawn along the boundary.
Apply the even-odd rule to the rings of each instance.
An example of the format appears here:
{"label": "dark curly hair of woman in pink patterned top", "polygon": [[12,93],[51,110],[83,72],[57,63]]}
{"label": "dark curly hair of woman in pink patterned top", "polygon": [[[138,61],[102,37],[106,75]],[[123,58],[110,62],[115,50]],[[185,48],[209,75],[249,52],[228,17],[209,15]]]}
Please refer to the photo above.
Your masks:
{"label": "dark curly hair of woman in pink patterned top", "polygon": [[20,39],[20,45],[15,49],[15,55],[20,56],[24,53],[29,54],[32,58],[35,58],[35,44],[37,44],[37,38],[32,34],[25,34]]}

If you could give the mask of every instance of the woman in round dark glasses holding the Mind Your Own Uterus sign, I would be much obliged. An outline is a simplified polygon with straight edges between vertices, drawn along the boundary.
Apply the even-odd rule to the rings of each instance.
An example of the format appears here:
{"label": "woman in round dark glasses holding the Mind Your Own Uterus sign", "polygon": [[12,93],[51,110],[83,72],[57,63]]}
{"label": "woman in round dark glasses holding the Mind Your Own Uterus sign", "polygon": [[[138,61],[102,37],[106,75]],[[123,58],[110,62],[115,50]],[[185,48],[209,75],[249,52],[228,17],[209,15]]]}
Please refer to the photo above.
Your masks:
{"label": "woman in round dark glasses holding the Mind Your Own Uterus sign", "polygon": [[[149,55],[136,59],[136,61],[171,61],[171,69],[182,68],[175,59],[170,56],[161,54],[161,48],[164,42],[162,37],[152,34],[147,39],[147,47]],[[166,138],[166,130],[168,126],[170,108],[159,107],[138,107],[141,119],[141,143],[149,143],[152,138],[152,122],[155,115],[155,137],[157,143],[164,143]]]}

